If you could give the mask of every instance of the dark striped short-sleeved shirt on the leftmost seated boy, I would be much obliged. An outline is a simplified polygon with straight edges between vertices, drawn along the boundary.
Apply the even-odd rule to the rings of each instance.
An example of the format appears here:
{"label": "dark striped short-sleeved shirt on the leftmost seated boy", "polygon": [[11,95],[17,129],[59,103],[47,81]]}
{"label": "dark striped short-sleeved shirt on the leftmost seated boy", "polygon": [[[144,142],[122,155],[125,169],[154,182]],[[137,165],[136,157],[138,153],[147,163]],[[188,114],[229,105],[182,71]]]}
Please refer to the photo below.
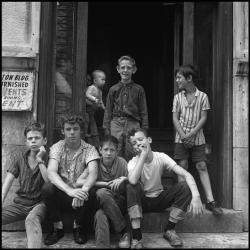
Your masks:
{"label": "dark striped short-sleeved shirt on the leftmost seated boy", "polygon": [[[28,155],[30,150],[23,149],[15,152],[10,157],[10,166],[7,172],[19,178],[20,188],[17,190],[17,197],[14,202],[23,205],[34,205],[41,201],[41,189],[44,179],[37,165],[34,169],[29,167]],[[48,158],[47,156],[45,158]],[[47,161],[47,159],[45,159]],[[46,164],[45,164],[46,165]]]}

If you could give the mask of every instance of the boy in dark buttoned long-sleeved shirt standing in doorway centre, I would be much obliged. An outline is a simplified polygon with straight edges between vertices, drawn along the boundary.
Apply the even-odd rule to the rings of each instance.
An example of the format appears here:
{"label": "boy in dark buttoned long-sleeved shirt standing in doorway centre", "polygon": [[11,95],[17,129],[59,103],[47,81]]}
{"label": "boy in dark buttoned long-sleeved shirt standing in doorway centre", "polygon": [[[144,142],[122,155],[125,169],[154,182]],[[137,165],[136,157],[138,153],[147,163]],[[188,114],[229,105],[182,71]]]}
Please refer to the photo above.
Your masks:
{"label": "boy in dark buttoned long-sleeved shirt standing in doorway centre", "polygon": [[144,88],[132,80],[137,67],[130,56],[118,59],[117,71],[121,80],[109,90],[103,128],[106,134],[111,133],[118,141],[118,155],[127,161],[132,158],[133,151],[127,133],[132,128],[148,129],[148,111]]}

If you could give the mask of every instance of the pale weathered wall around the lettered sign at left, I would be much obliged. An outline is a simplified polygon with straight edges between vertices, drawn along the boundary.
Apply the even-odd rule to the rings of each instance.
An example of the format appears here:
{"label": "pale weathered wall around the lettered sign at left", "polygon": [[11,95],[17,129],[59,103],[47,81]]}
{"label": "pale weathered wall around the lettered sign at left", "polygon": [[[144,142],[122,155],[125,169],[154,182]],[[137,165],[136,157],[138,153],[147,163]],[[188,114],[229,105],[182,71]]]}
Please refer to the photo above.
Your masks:
{"label": "pale weathered wall around the lettered sign at left", "polygon": [[[39,22],[40,3],[2,3],[2,70],[35,73],[32,110],[2,112],[2,183],[12,152],[25,145],[25,124],[37,117]],[[12,202],[18,187],[15,180],[2,206]],[[17,230],[19,225],[13,223],[2,229]]]}

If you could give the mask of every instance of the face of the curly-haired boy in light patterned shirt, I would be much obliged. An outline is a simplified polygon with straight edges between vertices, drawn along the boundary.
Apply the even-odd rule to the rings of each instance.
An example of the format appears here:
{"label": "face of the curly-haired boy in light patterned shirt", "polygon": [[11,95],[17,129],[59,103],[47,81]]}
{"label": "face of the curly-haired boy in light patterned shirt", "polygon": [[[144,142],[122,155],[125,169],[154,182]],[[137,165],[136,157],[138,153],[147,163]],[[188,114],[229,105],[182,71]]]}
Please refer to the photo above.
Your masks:
{"label": "face of the curly-haired boy in light patterned shirt", "polygon": [[65,141],[69,144],[77,144],[81,140],[81,128],[78,123],[65,123],[62,130]]}

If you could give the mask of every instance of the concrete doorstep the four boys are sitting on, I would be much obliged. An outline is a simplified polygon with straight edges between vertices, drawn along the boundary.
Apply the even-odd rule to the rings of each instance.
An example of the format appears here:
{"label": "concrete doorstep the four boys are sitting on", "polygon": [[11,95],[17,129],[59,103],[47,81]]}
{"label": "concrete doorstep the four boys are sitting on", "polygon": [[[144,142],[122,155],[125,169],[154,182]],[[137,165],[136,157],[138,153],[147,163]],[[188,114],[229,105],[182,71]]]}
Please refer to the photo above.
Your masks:
{"label": "concrete doorstep the four boys are sitting on", "polygon": [[[223,208],[222,216],[214,216],[212,212],[205,209],[204,214],[192,217],[186,215],[185,220],[176,225],[178,232],[186,233],[240,233],[243,232],[243,213],[239,210]],[[161,233],[167,224],[169,209],[161,213],[145,213],[142,222],[142,231],[145,233]],[[65,232],[72,231],[73,214],[66,214],[63,219]],[[43,225],[43,231],[48,232],[49,225]],[[2,226],[3,231],[25,230],[24,221]],[[90,228],[90,232],[93,229]]]}

